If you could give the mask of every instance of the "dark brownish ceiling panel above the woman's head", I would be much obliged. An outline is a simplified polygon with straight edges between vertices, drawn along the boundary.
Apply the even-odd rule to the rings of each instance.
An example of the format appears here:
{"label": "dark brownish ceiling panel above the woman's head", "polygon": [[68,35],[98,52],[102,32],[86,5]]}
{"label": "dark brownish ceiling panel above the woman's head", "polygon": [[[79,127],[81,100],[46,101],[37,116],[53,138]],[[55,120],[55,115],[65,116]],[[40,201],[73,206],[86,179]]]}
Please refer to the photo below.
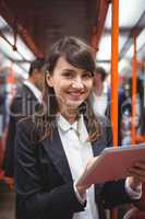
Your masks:
{"label": "dark brownish ceiling panel above the woman's head", "polygon": [[90,42],[99,5],[100,0],[1,0],[1,14],[39,56],[63,35]]}

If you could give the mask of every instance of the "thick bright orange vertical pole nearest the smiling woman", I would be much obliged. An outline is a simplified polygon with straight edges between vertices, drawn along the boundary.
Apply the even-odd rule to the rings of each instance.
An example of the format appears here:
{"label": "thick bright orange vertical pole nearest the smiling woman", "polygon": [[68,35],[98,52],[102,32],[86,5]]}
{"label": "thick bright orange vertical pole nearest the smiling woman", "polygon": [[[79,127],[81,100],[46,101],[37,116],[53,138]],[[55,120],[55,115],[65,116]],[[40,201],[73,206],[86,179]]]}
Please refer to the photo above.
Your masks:
{"label": "thick bright orange vertical pole nearest the smiling woman", "polygon": [[[112,0],[111,31],[111,124],[113,146],[118,146],[118,50],[119,50],[119,0]],[[111,218],[118,218],[117,209],[111,211]]]}

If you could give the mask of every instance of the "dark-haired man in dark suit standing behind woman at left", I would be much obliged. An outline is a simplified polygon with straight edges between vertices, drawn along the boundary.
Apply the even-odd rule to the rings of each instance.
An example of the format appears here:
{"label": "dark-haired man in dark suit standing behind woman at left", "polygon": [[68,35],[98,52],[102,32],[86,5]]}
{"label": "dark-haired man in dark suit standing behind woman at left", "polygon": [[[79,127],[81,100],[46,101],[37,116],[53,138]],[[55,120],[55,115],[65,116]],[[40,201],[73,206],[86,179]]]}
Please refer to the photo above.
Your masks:
{"label": "dark-haired man in dark suit standing behind woman at left", "polygon": [[14,145],[16,124],[21,118],[34,114],[41,103],[41,90],[44,84],[43,67],[44,58],[38,58],[31,64],[28,80],[19,88],[10,107],[10,122],[5,142],[3,170],[5,176],[14,174]]}

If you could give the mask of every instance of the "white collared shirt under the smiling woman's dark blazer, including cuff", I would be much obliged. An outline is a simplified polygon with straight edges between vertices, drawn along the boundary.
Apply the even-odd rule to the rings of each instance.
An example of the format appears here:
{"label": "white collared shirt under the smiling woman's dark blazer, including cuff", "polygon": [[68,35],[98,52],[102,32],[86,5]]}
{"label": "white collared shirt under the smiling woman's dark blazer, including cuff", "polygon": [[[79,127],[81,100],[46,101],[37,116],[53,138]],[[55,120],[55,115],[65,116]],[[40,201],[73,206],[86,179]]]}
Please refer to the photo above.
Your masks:
{"label": "white collared shirt under the smiling woman's dark blazer, including cuff", "polygon": [[[77,122],[70,124],[62,115],[58,114],[57,124],[73,181],[76,182],[88,160],[94,157],[90,142],[87,141],[88,132],[83,115]],[[94,189],[94,185],[87,189],[85,210],[73,214],[73,219],[99,219]],[[142,195],[142,186],[138,186],[136,191],[132,191],[128,178],[125,189],[131,198],[137,199]]]}

